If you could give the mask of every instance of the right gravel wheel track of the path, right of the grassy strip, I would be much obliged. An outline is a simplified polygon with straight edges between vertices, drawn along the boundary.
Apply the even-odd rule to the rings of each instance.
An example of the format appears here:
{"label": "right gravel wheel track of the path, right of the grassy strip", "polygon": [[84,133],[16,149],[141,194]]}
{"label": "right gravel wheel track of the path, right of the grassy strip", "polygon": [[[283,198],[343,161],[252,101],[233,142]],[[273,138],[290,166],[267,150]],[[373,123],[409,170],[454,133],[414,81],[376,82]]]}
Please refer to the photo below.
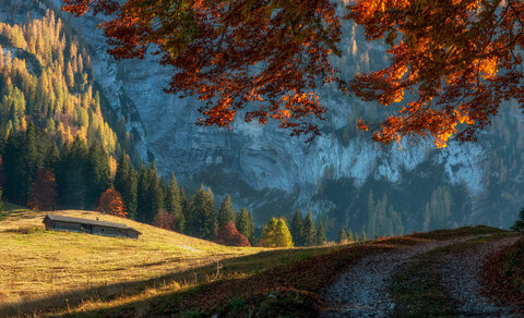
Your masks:
{"label": "right gravel wheel track of the path, right of the grassy strip", "polygon": [[478,244],[460,254],[443,256],[440,267],[442,285],[460,304],[460,313],[474,317],[522,317],[511,308],[499,307],[480,295],[483,259],[503,247],[514,244],[520,237],[508,237]]}

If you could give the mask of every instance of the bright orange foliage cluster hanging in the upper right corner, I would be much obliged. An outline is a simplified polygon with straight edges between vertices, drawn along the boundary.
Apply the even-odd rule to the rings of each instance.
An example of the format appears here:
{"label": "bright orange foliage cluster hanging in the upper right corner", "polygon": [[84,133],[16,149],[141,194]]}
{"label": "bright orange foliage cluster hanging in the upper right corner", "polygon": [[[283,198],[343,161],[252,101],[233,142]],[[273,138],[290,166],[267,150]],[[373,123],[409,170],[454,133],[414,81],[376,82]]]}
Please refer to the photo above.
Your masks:
{"label": "bright orange foliage cluster hanging in the upper right corner", "polygon": [[[398,142],[430,133],[438,147],[456,135],[475,140],[502,101],[524,102],[522,1],[358,0],[347,19],[369,40],[385,38],[388,69],[358,75],[353,91],[384,106],[404,101],[374,125],[374,139]],[[369,124],[359,123],[367,130]]]}

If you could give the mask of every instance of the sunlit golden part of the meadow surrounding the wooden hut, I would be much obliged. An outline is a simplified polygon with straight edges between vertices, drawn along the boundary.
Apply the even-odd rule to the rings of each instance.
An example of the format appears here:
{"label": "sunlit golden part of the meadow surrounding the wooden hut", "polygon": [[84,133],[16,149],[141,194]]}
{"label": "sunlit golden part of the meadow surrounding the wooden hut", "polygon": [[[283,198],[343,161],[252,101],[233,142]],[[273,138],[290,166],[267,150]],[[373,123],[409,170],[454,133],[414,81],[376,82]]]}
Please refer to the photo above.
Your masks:
{"label": "sunlit golden part of the meadow surrounding the wooden hut", "polygon": [[[47,307],[60,306],[63,298],[50,301],[60,294],[68,295],[69,302],[74,303],[79,297],[121,294],[123,288],[142,290],[150,279],[163,278],[165,282],[167,274],[172,279],[177,273],[217,260],[263,250],[225,247],[93,211],[53,213],[86,219],[98,217],[102,221],[124,223],[143,234],[139,240],[131,240],[51,232],[41,223],[46,212],[7,206],[9,211],[0,212],[0,313],[2,308],[8,310],[10,304],[20,303],[25,303],[24,309],[33,311],[29,304],[38,303],[39,298],[46,298]],[[193,272],[189,280],[195,279]],[[123,282],[142,283],[96,290]]]}

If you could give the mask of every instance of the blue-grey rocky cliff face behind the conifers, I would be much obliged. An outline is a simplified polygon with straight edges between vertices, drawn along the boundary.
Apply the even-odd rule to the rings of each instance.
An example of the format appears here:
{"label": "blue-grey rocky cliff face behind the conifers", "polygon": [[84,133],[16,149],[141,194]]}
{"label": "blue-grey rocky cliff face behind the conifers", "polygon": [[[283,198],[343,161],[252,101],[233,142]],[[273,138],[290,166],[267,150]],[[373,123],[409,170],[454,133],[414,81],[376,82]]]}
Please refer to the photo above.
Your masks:
{"label": "blue-grey rocky cliff face behind the conifers", "polygon": [[[2,5],[4,15],[12,14],[9,3]],[[53,3],[58,7],[59,0]],[[39,8],[45,9],[45,4],[40,3]],[[32,14],[38,14],[38,10]],[[489,159],[493,151],[511,166],[510,170],[516,168],[509,163],[513,159],[508,159],[508,149],[496,143],[500,137],[499,127],[483,135],[486,137],[477,144],[452,144],[443,150],[434,149],[430,140],[406,142],[402,145],[405,149],[398,149],[398,145],[384,147],[371,142],[370,135],[355,130],[358,118],[380,118],[383,110],[342,96],[331,87],[322,91],[322,101],[331,109],[329,120],[323,123],[322,136],[311,144],[291,138],[288,132],[272,125],[237,122],[231,131],[198,127],[194,122],[199,101],[162,91],[172,70],[162,68],[151,57],[142,61],[115,61],[105,52],[105,40],[95,27],[98,17],[67,21],[90,45],[95,77],[112,107],[127,117],[129,130],[140,136],[141,156],[154,158],[160,172],[175,172],[186,186],[204,183],[218,195],[230,193],[237,207],[251,207],[259,221],[270,215],[287,213],[293,208],[311,208],[327,229],[344,225],[389,234],[401,231],[398,229],[412,231],[441,225],[431,221],[439,218],[433,216],[432,211],[438,208],[431,203],[438,188],[451,193],[453,209],[442,225],[475,222],[507,225],[513,218],[508,217],[512,216],[511,209],[521,204],[517,199],[507,203],[503,213],[491,213],[478,204],[500,195],[493,194],[497,183],[488,182],[500,173],[496,171],[499,168],[492,167],[501,166]],[[385,65],[384,48],[368,44],[350,22],[344,34],[341,47],[345,54],[334,61],[343,76],[350,78],[357,72]],[[510,113],[514,125],[520,127],[522,117],[515,111]],[[516,140],[510,137],[507,142]],[[520,183],[511,184],[508,192],[519,193]],[[369,204],[371,192],[374,199],[388,195],[383,209],[391,206],[396,210],[402,228],[389,231],[373,225],[370,216],[381,208],[379,201],[374,205],[374,199],[371,199],[373,205]],[[445,213],[444,210],[438,213]]]}

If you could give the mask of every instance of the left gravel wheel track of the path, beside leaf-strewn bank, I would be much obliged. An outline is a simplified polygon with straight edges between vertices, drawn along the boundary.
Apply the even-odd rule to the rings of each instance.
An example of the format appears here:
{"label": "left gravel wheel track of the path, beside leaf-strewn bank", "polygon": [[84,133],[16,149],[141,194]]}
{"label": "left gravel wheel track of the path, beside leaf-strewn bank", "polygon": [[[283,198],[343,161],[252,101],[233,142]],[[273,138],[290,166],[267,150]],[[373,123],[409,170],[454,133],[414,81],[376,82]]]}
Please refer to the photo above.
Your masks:
{"label": "left gravel wheel track of the path, beside leaf-strewn bank", "polygon": [[432,241],[415,246],[401,247],[388,253],[365,257],[354,264],[340,279],[324,290],[323,296],[331,304],[321,317],[388,317],[395,304],[388,294],[393,273],[417,255],[433,248],[466,241]]}

